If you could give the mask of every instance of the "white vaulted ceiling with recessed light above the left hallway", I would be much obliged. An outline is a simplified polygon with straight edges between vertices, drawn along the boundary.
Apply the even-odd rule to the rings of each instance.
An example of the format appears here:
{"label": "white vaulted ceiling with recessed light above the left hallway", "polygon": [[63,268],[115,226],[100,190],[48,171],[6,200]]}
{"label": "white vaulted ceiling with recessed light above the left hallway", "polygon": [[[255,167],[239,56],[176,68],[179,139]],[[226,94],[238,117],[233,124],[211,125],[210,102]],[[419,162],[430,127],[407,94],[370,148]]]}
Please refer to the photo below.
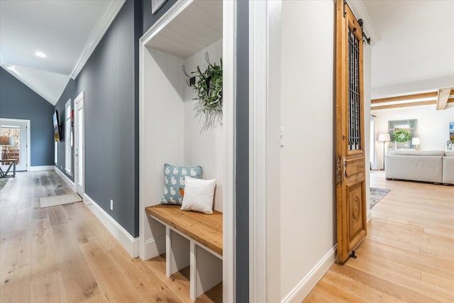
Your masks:
{"label": "white vaulted ceiling with recessed light above the left hallway", "polygon": [[[55,104],[124,0],[0,1],[0,65]],[[46,57],[38,57],[36,52]]]}

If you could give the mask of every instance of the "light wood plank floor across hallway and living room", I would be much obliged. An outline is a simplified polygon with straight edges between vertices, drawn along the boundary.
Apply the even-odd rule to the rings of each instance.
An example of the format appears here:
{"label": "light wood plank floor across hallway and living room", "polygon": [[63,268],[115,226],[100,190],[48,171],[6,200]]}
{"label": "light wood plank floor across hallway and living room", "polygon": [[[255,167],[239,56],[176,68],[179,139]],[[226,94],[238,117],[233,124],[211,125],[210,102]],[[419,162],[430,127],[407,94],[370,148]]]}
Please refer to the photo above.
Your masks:
{"label": "light wood plank floor across hallway and living room", "polygon": [[[358,259],[333,265],[304,302],[454,302],[454,187],[384,180]],[[18,173],[0,191],[0,302],[190,302],[188,272],[128,253],[55,172]],[[197,302],[221,302],[221,285]]]}

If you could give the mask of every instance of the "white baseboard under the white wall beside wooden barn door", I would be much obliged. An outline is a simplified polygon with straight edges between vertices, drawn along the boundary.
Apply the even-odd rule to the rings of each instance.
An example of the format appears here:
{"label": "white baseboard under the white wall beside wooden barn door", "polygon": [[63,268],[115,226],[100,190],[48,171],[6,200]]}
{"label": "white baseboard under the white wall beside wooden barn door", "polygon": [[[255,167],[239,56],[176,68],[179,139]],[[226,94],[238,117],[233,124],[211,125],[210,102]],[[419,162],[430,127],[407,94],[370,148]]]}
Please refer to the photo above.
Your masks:
{"label": "white baseboard under the white wall beside wooden barn door", "polygon": [[298,285],[282,299],[282,303],[302,302],[315,285],[317,285],[323,275],[331,268],[331,265],[336,262],[337,248],[337,244],[331,248],[331,250],[321,258],[319,263],[312,268],[306,277],[304,277],[303,280],[301,280]]}

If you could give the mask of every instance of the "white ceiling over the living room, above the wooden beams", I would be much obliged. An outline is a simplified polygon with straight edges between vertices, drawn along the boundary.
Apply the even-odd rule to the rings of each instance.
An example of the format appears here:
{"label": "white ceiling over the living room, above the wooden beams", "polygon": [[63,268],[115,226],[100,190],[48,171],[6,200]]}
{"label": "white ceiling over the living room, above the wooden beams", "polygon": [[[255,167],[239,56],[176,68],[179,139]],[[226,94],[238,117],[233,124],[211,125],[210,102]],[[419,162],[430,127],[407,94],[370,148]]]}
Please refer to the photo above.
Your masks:
{"label": "white ceiling over the living room, above the wooden beams", "polygon": [[454,86],[454,1],[362,1],[380,36],[372,99]]}

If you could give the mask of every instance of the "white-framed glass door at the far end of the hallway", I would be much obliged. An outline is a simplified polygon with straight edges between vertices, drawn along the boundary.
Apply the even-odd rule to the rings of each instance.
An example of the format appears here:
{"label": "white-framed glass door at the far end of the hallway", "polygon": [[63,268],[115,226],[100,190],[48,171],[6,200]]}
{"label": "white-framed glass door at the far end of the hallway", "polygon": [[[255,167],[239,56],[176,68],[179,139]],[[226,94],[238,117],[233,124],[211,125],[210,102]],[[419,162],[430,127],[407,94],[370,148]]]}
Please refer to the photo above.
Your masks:
{"label": "white-framed glass door at the far end of the hallway", "polygon": [[[2,159],[16,159],[16,171],[28,170],[28,122],[18,119],[0,119],[0,136],[13,137],[13,145],[2,146]],[[5,170],[9,165],[1,165]]]}

